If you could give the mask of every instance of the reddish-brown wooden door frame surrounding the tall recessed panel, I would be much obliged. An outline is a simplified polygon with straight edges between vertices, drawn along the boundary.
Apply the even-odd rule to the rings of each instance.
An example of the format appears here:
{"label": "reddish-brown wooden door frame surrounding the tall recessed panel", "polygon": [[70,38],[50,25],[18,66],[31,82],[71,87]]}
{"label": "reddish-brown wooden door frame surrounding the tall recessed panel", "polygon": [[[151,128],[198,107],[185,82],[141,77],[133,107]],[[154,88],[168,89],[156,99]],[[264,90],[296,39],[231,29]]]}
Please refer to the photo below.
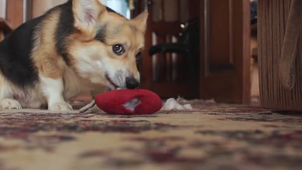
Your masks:
{"label": "reddish-brown wooden door frame surrounding the tall recessed panel", "polygon": [[[200,23],[200,98],[214,98],[218,102],[248,104],[250,103],[250,0],[236,0],[232,2],[233,38],[233,68],[219,73],[209,70],[209,0],[201,0]],[[241,11],[240,11],[241,10]],[[204,24],[203,24],[204,23]],[[243,71],[243,72],[240,72]],[[235,87],[235,85],[237,87]]]}

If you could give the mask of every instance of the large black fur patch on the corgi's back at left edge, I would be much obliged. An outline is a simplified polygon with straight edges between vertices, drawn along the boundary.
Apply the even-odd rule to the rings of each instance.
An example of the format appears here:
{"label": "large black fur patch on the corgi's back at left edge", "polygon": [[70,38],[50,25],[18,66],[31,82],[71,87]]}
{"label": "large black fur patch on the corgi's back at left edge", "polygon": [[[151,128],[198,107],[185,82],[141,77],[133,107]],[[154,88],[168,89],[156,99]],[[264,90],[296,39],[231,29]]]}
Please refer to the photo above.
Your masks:
{"label": "large black fur patch on the corgi's back at left edge", "polygon": [[30,58],[34,28],[43,16],[29,20],[0,42],[0,70],[10,82],[24,87],[38,80],[38,73]]}

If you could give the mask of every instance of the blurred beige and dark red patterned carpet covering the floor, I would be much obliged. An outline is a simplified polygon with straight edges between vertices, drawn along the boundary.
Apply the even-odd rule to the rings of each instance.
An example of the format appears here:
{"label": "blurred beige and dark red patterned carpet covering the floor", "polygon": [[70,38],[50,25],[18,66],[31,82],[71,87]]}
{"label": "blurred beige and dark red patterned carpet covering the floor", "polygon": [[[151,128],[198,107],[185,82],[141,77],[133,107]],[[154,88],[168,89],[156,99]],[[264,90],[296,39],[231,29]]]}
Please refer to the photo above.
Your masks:
{"label": "blurred beige and dark red patterned carpet covering the floor", "polygon": [[153,115],[0,110],[0,170],[295,170],[302,114],[224,104]]}

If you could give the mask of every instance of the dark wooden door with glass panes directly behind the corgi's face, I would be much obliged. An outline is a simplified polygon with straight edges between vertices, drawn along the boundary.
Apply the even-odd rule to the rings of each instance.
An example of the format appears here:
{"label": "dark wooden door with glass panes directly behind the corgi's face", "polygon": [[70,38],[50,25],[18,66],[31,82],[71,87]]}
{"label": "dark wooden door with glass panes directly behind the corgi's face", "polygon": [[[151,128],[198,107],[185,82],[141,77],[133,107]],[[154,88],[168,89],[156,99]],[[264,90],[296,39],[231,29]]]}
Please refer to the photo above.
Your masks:
{"label": "dark wooden door with glass panes directly behind the corgi's face", "polygon": [[[199,17],[199,0],[137,0],[135,6],[149,12],[145,52],[139,64],[141,88],[151,89],[162,98],[197,98],[199,80],[188,79],[191,75],[183,65],[185,57],[191,56],[176,53],[150,56],[149,50],[156,44],[178,42],[182,24]],[[142,10],[132,14],[137,15],[137,11]]]}

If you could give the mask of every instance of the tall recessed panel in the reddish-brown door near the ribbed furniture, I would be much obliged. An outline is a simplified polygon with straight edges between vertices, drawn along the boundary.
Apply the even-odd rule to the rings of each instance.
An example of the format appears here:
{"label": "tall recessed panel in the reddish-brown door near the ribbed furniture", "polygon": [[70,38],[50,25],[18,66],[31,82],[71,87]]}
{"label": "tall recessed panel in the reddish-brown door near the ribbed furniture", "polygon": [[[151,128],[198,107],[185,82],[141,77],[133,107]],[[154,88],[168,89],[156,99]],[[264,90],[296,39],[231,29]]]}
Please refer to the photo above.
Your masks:
{"label": "tall recessed panel in the reddish-brown door near the ribbed furniture", "polygon": [[[209,70],[215,72],[232,69],[232,0],[210,0],[209,6],[215,6],[215,9],[209,10],[208,15],[208,56],[211,56]],[[218,50],[218,47],[224,48]]]}

